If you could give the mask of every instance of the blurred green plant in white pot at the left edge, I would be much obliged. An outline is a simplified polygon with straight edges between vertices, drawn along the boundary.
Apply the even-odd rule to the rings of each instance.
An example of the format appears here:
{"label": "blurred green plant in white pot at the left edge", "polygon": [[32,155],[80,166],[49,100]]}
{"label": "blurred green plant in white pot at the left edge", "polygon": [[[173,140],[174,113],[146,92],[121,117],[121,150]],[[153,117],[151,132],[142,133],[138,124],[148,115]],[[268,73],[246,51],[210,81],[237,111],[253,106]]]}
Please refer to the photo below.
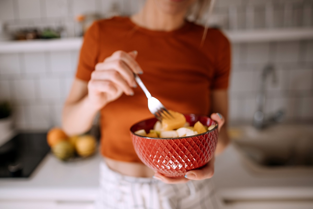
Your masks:
{"label": "blurred green plant in white pot at the left edge", "polygon": [[11,133],[13,124],[12,108],[9,102],[0,102],[0,145]]}

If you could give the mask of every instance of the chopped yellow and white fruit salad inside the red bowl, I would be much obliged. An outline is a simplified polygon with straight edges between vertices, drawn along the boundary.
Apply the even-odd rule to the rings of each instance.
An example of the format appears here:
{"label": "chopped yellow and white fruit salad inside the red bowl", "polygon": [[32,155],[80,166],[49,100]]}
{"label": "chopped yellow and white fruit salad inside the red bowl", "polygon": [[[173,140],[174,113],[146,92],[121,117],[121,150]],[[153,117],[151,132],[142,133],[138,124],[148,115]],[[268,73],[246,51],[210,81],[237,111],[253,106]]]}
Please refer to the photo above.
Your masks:
{"label": "chopped yellow and white fruit salad inside the red bowl", "polygon": [[135,131],[134,133],[152,138],[176,138],[204,133],[212,130],[216,126],[211,125],[207,127],[200,121],[196,122],[194,126],[190,126],[190,124],[186,122],[186,118],[182,113],[172,110],[169,110],[169,112],[172,117],[164,117],[162,122],[157,121],[149,133],[146,133],[144,129]]}

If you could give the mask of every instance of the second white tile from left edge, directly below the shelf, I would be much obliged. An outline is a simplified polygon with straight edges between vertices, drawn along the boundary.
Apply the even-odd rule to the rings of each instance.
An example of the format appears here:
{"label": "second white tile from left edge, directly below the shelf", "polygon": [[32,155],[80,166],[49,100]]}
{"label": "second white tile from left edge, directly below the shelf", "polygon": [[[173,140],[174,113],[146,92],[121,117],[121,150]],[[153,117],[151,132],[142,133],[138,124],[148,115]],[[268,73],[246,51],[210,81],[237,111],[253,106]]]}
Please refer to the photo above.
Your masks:
{"label": "second white tile from left edge, directly below the shelf", "polygon": [[24,68],[26,73],[45,73],[46,60],[45,55],[42,52],[25,53]]}

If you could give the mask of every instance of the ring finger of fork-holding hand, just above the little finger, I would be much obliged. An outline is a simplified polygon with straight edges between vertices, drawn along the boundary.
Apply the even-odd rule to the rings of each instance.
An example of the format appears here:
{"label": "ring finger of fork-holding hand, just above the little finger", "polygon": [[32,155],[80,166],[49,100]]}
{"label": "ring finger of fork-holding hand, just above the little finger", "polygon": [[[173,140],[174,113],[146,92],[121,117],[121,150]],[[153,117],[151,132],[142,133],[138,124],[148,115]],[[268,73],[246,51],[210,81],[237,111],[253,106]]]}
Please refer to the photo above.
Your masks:
{"label": "ring finger of fork-holding hand, just above the little finger", "polygon": [[[121,75],[117,71],[113,71],[113,70],[93,71],[91,73],[91,79],[92,81],[111,81],[116,86],[119,86],[126,95],[131,95],[131,96],[134,95],[134,91],[131,89],[131,87],[127,84],[127,82],[121,77]],[[97,85],[100,86],[103,84],[100,84],[100,82],[97,82]]]}

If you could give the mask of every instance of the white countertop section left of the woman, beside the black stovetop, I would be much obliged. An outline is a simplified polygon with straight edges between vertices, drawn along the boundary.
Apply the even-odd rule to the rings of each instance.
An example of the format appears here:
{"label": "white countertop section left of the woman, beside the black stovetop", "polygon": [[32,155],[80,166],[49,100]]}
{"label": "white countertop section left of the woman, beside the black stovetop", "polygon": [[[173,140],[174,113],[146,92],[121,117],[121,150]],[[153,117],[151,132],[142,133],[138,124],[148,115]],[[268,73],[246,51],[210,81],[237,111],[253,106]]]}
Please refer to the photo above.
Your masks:
{"label": "white countertop section left of the woman, beside the black stovetop", "polygon": [[49,153],[28,179],[0,179],[0,201],[94,201],[98,189],[99,153],[62,162]]}

